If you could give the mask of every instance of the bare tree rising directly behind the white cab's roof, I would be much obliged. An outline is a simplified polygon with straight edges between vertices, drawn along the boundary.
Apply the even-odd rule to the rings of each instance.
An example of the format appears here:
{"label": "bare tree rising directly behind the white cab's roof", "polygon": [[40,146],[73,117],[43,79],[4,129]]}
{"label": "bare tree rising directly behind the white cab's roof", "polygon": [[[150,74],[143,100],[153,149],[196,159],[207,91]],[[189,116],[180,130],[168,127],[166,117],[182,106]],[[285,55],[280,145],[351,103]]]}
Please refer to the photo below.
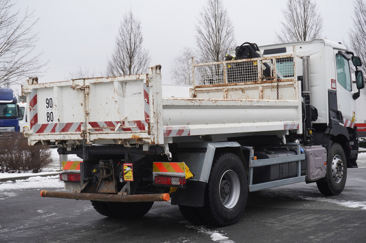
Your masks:
{"label": "bare tree rising directly behind the white cab's roof", "polygon": [[278,42],[310,41],[321,38],[323,18],[315,1],[288,0],[282,10],[284,22],[280,33],[276,32]]}

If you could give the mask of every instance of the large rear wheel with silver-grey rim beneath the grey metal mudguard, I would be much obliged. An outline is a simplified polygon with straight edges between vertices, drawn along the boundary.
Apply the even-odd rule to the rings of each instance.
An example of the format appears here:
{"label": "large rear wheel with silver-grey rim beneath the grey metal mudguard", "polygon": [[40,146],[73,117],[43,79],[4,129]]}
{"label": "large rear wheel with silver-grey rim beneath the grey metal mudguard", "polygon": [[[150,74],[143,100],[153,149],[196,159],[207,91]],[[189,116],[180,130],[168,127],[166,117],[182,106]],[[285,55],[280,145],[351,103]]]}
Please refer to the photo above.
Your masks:
{"label": "large rear wheel with silver-grey rim beneath the grey metal mudguard", "polygon": [[244,211],[247,197],[243,162],[234,153],[216,155],[205,190],[205,221],[222,226],[235,224]]}

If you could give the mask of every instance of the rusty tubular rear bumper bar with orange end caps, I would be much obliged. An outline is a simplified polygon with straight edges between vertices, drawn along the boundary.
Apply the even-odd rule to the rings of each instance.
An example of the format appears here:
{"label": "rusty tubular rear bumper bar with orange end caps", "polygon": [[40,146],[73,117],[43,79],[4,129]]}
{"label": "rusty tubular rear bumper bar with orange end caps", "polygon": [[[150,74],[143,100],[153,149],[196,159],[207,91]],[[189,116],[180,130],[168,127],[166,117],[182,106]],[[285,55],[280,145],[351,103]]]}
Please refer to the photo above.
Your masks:
{"label": "rusty tubular rear bumper bar with orange end caps", "polygon": [[134,195],[117,195],[102,193],[74,193],[66,191],[41,191],[41,197],[68,198],[76,200],[90,200],[101,202],[161,202],[169,201],[169,193],[163,194],[134,194]]}

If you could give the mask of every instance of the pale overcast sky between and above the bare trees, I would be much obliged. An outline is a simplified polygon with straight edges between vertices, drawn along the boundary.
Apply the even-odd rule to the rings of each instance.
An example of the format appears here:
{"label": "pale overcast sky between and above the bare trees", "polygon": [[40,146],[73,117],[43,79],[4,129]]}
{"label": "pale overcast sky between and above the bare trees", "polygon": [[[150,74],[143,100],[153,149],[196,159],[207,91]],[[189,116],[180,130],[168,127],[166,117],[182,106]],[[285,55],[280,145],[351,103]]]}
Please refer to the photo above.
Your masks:
{"label": "pale overcast sky between and above the bare trees", "polygon": [[[287,0],[224,1],[235,26],[237,44],[275,42],[280,32]],[[39,18],[34,33],[39,32],[35,53],[50,60],[40,82],[67,80],[79,67],[101,76],[111,55],[123,14],[132,10],[141,20],[143,47],[150,51],[150,66],[161,64],[163,83],[169,84],[174,56],[184,46],[195,46],[194,27],[205,0],[18,0],[15,8],[34,10]],[[348,41],[352,25],[352,0],[316,0],[324,18],[323,34],[335,42]],[[235,46],[233,46],[235,48]]]}

